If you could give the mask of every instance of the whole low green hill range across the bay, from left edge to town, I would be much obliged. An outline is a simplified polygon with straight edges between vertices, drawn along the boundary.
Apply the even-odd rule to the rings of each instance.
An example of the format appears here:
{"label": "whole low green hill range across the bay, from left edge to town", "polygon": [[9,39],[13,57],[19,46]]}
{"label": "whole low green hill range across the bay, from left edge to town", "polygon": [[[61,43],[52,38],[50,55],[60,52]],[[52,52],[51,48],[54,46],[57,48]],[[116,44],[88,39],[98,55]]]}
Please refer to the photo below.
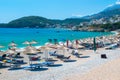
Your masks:
{"label": "whole low green hill range across the bay, from left edge to town", "polygon": [[46,28],[46,27],[57,27],[56,25],[78,25],[80,22],[88,21],[87,19],[80,18],[68,18],[65,20],[55,20],[47,19],[40,16],[27,16],[22,17],[16,20],[12,20],[7,24],[0,24],[0,27],[9,27],[9,28]]}

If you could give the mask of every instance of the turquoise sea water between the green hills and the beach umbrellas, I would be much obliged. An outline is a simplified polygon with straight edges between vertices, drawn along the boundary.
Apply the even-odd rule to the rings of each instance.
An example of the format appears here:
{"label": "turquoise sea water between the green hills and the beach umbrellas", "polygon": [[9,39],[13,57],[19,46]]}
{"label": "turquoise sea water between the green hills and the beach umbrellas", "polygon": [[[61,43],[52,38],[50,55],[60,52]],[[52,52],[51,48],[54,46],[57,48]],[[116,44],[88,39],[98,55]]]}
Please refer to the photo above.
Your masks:
{"label": "turquoise sea water between the green hills and the beach umbrellas", "polygon": [[96,37],[109,35],[109,32],[77,32],[64,29],[27,29],[27,28],[0,28],[0,45],[8,48],[8,44],[14,41],[18,47],[24,47],[24,41],[36,40],[38,44],[34,46],[44,45],[48,39],[58,39],[58,41],[83,39],[88,37]]}

